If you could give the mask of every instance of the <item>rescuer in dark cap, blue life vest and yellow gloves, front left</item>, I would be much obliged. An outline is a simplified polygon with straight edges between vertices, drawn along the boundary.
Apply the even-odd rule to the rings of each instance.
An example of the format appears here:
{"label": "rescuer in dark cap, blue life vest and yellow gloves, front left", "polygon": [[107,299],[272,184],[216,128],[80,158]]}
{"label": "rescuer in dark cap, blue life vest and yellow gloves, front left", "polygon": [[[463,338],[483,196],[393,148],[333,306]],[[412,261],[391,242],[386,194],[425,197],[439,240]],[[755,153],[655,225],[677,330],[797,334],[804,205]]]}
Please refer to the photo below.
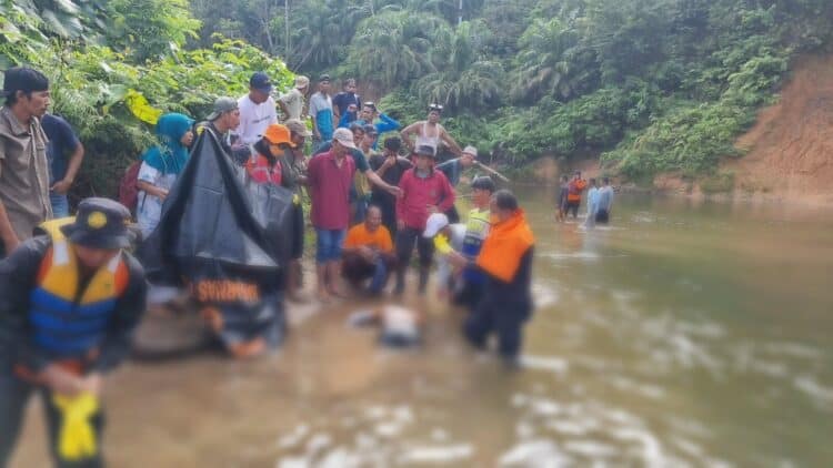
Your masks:
{"label": "rescuer in dark cap, blue life vest and yellow gloves, front left", "polygon": [[129,218],[117,202],[84,200],[74,222],[47,223],[0,262],[0,467],[33,391],[54,466],[103,466],[102,376],[128,355],[144,311],[144,272],[123,251]]}

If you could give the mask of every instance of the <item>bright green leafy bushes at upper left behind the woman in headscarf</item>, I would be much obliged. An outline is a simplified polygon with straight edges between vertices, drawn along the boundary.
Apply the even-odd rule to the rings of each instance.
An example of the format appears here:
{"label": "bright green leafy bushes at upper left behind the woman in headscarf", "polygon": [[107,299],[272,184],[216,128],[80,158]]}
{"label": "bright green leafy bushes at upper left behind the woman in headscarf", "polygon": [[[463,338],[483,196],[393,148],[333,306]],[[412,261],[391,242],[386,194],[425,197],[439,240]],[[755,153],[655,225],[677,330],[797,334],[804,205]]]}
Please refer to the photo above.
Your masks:
{"label": "bright green leafy bushes at upper left behind the woman in headscarf", "polygon": [[87,149],[76,196],[116,194],[124,169],[153,142],[143,106],[204,116],[215,96],[245,93],[254,70],[290,85],[281,60],[243,41],[188,47],[200,24],[185,0],[0,0],[0,68],[43,71],[52,111]]}

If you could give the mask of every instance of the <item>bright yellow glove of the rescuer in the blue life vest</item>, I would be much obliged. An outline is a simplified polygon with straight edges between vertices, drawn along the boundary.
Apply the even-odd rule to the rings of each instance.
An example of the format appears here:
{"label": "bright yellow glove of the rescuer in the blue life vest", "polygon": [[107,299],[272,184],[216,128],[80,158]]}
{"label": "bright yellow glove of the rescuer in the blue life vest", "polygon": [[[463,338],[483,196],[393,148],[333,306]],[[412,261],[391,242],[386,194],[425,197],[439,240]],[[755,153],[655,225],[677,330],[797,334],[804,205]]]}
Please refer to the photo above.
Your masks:
{"label": "bright yellow glove of the rescuer in the blue life vest", "polygon": [[96,431],[90,419],[99,410],[99,401],[92,394],[77,397],[52,395],[52,403],[61,411],[61,428],[58,434],[58,454],[69,461],[94,457],[98,454]]}

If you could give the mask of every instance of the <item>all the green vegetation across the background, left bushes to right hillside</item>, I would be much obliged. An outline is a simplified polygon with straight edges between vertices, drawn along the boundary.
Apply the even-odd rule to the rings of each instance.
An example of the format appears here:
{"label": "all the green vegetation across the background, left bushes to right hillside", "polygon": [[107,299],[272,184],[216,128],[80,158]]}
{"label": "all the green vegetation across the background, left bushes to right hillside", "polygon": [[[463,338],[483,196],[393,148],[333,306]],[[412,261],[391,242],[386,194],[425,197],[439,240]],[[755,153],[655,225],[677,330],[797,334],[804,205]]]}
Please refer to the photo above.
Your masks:
{"label": "all the green vegetation across the background, left bushes to right hillside", "polygon": [[829,0],[0,0],[0,67],[52,79],[90,154],[82,194],[112,194],[151,141],[128,102],[201,116],[253,70],[288,85],[277,57],[357,77],[404,122],[442,102],[462,143],[509,163],[601,155],[648,180],[735,154],[831,18]]}

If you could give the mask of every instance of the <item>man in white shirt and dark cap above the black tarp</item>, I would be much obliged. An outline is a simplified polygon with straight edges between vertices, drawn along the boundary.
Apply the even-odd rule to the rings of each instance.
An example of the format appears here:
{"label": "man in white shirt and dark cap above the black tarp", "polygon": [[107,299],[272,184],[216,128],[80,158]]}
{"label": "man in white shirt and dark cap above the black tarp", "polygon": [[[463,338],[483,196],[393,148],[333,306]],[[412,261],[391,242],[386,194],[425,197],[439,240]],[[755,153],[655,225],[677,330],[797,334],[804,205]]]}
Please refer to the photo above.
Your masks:
{"label": "man in white shirt and dark cap above the black tarp", "polygon": [[259,71],[249,80],[249,94],[238,100],[240,109],[240,125],[235,132],[243,144],[257,143],[265,132],[267,126],[278,123],[278,110],[271,96],[272,82],[269,77]]}

